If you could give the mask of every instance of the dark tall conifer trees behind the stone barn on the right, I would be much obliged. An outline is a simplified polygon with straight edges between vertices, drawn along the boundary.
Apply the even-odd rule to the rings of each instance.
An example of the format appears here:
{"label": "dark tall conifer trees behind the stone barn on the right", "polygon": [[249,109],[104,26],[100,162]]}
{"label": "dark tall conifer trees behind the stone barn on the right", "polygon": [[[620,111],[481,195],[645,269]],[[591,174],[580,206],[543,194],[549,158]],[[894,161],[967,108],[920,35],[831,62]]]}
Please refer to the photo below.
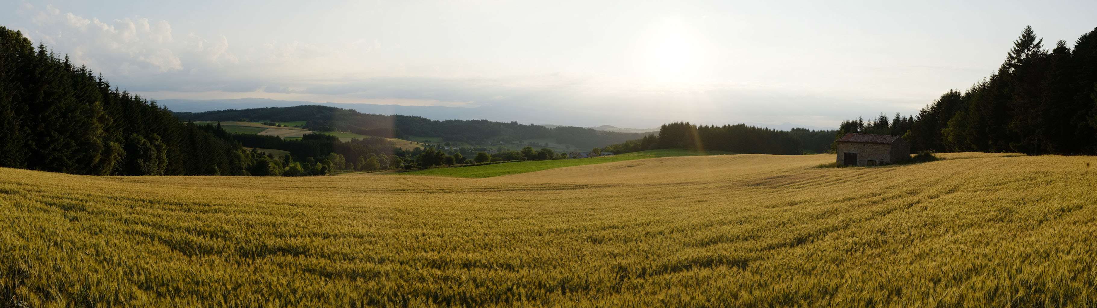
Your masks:
{"label": "dark tall conifer trees behind the stone barn on the right", "polygon": [[968,90],[946,91],[904,122],[846,121],[840,130],[902,135],[916,151],[1097,155],[1097,28],[1047,50],[1028,26],[998,70]]}

